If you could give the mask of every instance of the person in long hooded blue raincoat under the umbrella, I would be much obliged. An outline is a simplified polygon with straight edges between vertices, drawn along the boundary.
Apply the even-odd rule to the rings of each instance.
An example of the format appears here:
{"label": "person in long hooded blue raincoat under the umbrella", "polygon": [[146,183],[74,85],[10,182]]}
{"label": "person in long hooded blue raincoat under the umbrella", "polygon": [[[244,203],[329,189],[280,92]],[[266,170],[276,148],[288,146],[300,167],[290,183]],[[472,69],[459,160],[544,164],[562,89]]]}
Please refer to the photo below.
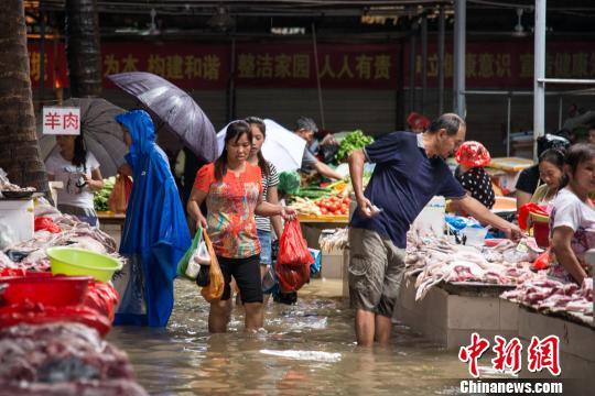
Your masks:
{"label": "person in long hooded blue raincoat under the umbrella", "polygon": [[173,308],[173,279],[191,235],[167,156],[143,110],[117,116],[130,152],[133,187],[120,242],[129,265],[115,279],[120,305],[115,324],[164,327]]}

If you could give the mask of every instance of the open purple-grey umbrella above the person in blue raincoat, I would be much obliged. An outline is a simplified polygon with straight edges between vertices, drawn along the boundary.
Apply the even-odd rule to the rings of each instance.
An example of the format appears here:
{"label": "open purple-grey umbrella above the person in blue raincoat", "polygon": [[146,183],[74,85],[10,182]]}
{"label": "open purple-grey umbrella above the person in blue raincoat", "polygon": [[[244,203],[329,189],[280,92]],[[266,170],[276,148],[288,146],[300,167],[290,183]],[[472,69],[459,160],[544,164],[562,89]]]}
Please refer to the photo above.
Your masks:
{"label": "open purple-grey umbrella above the person in blue raincoat", "polygon": [[215,128],[188,94],[151,73],[120,73],[108,78],[144,105],[158,131],[163,128],[173,132],[205,162],[217,158]]}

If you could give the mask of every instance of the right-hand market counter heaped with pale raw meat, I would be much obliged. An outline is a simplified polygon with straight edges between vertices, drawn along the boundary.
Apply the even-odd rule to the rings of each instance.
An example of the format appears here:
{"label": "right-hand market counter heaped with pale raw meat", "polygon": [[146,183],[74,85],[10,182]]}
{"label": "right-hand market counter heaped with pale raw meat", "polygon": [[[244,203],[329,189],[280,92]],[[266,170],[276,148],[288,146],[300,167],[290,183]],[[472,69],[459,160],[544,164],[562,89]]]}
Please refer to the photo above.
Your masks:
{"label": "right-hand market counter heaped with pale raw meat", "polygon": [[410,233],[396,319],[454,350],[473,332],[530,341],[538,327],[564,338],[569,364],[593,371],[593,351],[576,346],[593,344],[585,342],[594,329],[593,279],[581,286],[549,279],[533,264],[541,252],[532,239],[465,246]]}

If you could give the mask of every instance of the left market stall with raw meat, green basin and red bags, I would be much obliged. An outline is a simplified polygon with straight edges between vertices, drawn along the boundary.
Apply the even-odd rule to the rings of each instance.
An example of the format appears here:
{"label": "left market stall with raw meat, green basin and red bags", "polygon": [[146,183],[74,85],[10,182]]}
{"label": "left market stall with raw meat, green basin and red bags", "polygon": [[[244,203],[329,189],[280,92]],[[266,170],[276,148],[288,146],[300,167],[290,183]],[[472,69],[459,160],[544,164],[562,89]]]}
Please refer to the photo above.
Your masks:
{"label": "left market stall with raw meat, green basin and red bags", "polygon": [[[1,170],[1,169],[0,169]],[[28,206],[0,213],[0,382],[6,394],[147,395],[126,352],[104,341],[122,268],[116,241],[64,215],[33,191],[0,186],[0,204],[20,191]],[[31,226],[29,238],[15,229]],[[31,224],[29,224],[31,223]]]}

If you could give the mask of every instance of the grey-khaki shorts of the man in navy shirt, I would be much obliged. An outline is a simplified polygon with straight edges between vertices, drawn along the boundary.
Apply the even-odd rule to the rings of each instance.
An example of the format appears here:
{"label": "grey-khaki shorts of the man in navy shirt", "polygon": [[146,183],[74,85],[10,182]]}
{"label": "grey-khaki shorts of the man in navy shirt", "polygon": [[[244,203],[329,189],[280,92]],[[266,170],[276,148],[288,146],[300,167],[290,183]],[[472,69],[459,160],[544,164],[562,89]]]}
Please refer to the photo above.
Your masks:
{"label": "grey-khaki shorts of the man in navy shirt", "polygon": [[349,229],[351,308],[392,318],[404,273],[404,249],[375,231]]}

